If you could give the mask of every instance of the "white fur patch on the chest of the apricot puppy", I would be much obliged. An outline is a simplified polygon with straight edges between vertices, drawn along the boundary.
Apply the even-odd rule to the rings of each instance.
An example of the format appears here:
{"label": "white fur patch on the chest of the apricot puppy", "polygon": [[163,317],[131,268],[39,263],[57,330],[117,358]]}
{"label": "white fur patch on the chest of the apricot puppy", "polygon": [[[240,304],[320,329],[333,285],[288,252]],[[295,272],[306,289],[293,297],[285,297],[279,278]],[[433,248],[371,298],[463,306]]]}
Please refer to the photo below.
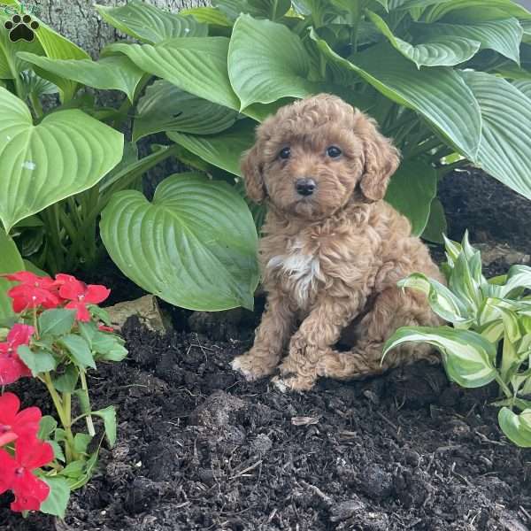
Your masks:
{"label": "white fur patch on the chest of the apricot puppy", "polygon": [[288,253],[273,257],[267,262],[267,268],[280,269],[289,280],[297,304],[305,306],[312,291],[321,277],[319,258],[302,252],[302,242],[296,240],[288,248]]}

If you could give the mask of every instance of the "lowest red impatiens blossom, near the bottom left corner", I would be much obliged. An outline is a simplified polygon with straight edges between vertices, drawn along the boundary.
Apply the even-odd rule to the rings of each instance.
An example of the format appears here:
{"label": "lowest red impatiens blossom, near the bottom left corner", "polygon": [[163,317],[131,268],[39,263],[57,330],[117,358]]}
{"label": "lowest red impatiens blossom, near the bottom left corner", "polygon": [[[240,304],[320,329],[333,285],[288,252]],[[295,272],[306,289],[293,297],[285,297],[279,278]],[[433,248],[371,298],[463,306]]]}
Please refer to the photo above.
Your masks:
{"label": "lowest red impatiens blossom, near the bottom left corner", "polygon": [[24,436],[15,441],[15,455],[0,450],[0,494],[12,490],[15,500],[12,511],[38,511],[50,494],[50,487],[33,471],[53,460],[49,443],[36,437]]}

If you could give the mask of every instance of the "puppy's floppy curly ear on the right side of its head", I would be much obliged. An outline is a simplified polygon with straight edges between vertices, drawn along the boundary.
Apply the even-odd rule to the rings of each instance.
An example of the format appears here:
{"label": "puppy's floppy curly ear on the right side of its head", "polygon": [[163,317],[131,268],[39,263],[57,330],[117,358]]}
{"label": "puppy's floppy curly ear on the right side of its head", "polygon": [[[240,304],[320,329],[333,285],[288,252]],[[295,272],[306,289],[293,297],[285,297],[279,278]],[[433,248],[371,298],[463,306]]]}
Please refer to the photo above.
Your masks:
{"label": "puppy's floppy curly ear on the right side of its head", "polygon": [[373,119],[357,112],[355,132],[363,142],[365,165],[359,187],[366,199],[379,201],[385,196],[389,179],[400,164],[400,152],[389,138],[381,135]]}

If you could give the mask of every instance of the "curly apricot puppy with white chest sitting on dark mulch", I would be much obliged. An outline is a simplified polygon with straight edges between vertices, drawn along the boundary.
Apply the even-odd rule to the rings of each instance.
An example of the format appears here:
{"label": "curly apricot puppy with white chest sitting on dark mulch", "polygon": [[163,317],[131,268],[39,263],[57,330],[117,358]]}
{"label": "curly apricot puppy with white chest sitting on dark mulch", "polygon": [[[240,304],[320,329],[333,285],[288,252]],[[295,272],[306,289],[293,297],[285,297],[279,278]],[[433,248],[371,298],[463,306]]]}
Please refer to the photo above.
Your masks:
{"label": "curly apricot puppy with white chest sitting on dark mulch", "polygon": [[[247,379],[272,374],[287,346],[273,379],[281,390],[436,360],[410,343],[381,365],[396,328],[439,323],[424,295],[396,282],[413,272],[443,281],[409,221],[383,201],[398,163],[373,119],[336,96],[297,101],[258,127],[242,173],[248,196],[268,205],[259,251],[268,298],[254,346],[232,363]],[[350,350],[335,350],[340,336]]]}

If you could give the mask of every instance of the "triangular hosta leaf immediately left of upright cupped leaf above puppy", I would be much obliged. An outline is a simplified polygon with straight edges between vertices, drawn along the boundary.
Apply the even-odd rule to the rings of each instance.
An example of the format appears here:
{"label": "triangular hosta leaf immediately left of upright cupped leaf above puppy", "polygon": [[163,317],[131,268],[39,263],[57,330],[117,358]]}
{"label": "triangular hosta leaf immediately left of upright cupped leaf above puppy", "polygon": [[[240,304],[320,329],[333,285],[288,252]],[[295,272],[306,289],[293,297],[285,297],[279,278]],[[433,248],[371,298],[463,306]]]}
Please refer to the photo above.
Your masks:
{"label": "triangular hosta leaf immediately left of upright cupped leaf above puppy", "polygon": [[151,44],[111,44],[105,53],[124,53],[143,71],[173,83],[179,89],[229,109],[240,100],[228,81],[228,39],[188,37]]}

